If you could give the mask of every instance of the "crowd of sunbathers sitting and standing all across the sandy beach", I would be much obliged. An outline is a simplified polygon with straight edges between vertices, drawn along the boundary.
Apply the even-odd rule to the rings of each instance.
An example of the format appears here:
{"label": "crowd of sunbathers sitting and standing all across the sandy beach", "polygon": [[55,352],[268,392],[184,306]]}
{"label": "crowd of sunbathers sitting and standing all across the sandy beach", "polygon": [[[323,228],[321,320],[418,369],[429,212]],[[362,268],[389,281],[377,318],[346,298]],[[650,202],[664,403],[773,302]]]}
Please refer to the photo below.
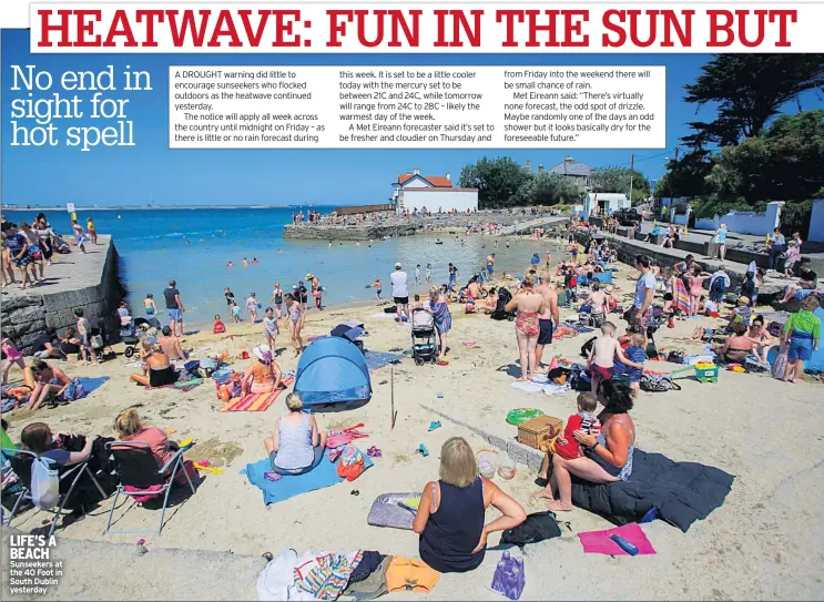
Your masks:
{"label": "crowd of sunbathers sitting and standing all across the sandy beach", "polygon": [[[7,229],[11,236],[17,235],[16,228],[3,227],[7,241]],[[610,227],[608,225],[607,229]],[[592,236],[581,249],[578,235],[583,233]],[[719,318],[719,326],[710,333],[696,328],[693,334],[695,339],[712,345],[716,361],[737,365],[754,355],[760,363],[766,363],[770,350],[777,346],[786,361],[781,377],[789,382],[801,379],[804,361],[817,350],[821,339],[821,320],[814,312],[821,305],[822,290],[808,262],[796,261],[797,272],[794,273],[798,280],[787,285],[779,302],[786,305],[797,300],[800,308],[790,314],[780,333],[774,335],[765,326],[765,318],[756,313],[765,272],[749,269],[735,293],[733,307],[724,312],[722,307],[733,278],[723,264],[711,272],[703,269],[693,255],[686,255],[671,267],[662,267],[652,257],[641,254],[632,262],[637,274],[630,277],[634,290],[627,300],[629,305],[620,307],[618,290],[611,284],[618,262],[617,248],[609,239],[596,236],[597,227],[580,221],[572,221],[566,234],[568,256],[555,263],[549,251],[543,256],[535,253],[528,264],[525,262],[521,275],[502,273],[496,276],[495,252],[486,256],[484,265],[472,272],[464,286],[458,283],[460,271],[454,263],[448,263],[447,282],[441,285],[433,282],[431,263],[416,264],[410,275],[397,262],[388,275],[396,324],[411,326],[417,312],[431,316],[438,335],[437,360],[444,367],[449,366],[447,340],[452,329],[452,312],[458,305],[462,305],[467,314],[511,314],[519,356],[516,382],[520,384],[541,376],[550,378],[557,369],[552,365],[555,358],[545,358],[545,353],[559,334],[571,328],[561,322],[561,307],[574,306],[579,322],[586,320],[588,330],[597,328],[598,336],[588,343],[582,366],[588,390],[579,389],[580,395],[570,407],[567,428],[546,450],[537,476],[539,489],[533,497],[543,500],[551,512],[572,510],[573,478],[594,484],[630,479],[637,445],[631,412],[651,359],[650,349],[655,346],[655,333],[661,326],[672,327],[678,319],[696,316]],[[562,235],[541,233],[541,237]],[[18,242],[19,238],[14,238],[12,246]],[[496,241],[492,251],[497,248]],[[12,261],[14,258],[17,256]],[[429,285],[428,294],[410,294],[413,283]],[[375,289],[376,299],[383,302],[382,278],[377,276],[369,286]],[[253,361],[240,375],[241,397],[271,394],[282,388],[284,373],[277,364],[281,324],[287,325],[292,349],[295,357],[299,356],[304,349],[306,315],[311,305],[323,308],[323,292],[318,277],[308,272],[291,290],[275,283],[268,302],[255,292],[250,293],[242,306],[250,324],[260,322],[262,330],[260,344],[252,349]],[[241,322],[243,309],[235,294],[230,287],[223,293],[231,322]],[[162,387],[174,382],[177,378],[174,363],[186,359],[187,351],[181,343],[185,306],[174,279],[163,290],[163,304],[167,324],[140,333],[142,371],[130,376],[130,380],[140,386]],[[143,312],[146,317],[161,318],[153,294],[143,299]],[[42,351],[45,355],[34,359],[30,376],[27,373],[32,410],[47,404],[61,404],[63,395],[74,384],[65,371],[47,361],[63,357],[60,350],[63,343],[74,345],[87,361],[98,361],[89,319],[82,310],[75,310],[75,328],[67,330],[58,341],[60,355],[52,355],[53,346],[45,347]],[[134,322],[124,304],[119,318],[124,327]],[[623,334],[619,334],[619,319],[627,323]],[[215,335],[228,331],[220,315],[215,316],[212,331]],[[719,341],[719,336],[723,340]],[[28,366],[9,338],[2,340],[2,350],[6,384],[13,366],[24,371]],[[285,397],[285,409],[286,414],[275,421],[272,435],[262,441],[271,471],[278,479],[315,470],[325,457],[329,437],[317,418],[305,411],[299,394],[291,392]],[[32,422],[22,430],[20,440],[27,450],[50,458],[60,468],[94,459],[93,471],[106,487],[115,486],[118,476],[113,467],[106,465],[105,456],[98,453],[101,446],[146,441],[159,467],[177,450],[177,443],[161,429],[144,424],[135,408],[121,412],[113,430],[114,437],[78,438],[72,433],[52,432],[45,422]],[[186,468],[190,470],[195,475],[193,466]],[[79,489],[73,500],[74,516],[82,516],[94,496],[94,491]],[[487,521],[486,511],[490,507],[499,513]],[[451,437],[440,450],[439,478],[421,489],[413,531],[419,535],[419,555],[428,569],[441,573],[467,572],[484,561],[491,533],[515,529],[526,520],[522,504],[480,475],[476,451],[466,439]]]}

